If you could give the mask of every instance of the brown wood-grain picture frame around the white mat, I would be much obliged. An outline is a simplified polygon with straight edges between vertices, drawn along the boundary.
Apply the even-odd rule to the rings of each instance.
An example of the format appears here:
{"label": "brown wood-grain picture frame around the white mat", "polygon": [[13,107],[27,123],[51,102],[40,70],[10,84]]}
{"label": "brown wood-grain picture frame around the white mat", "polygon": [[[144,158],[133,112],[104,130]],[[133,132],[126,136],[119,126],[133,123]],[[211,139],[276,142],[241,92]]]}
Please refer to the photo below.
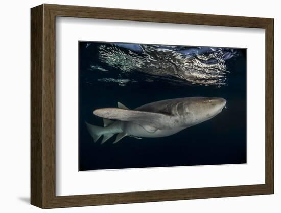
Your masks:
{"label": "brown wood-grain picture frame around the white mat", "polygon": [[[263,28],[266,33],[265,184],[129,193],[55,194],[55,17]],[[31,204],[40,208],[273,194],[273,19],[43,4],[31,9]]]}

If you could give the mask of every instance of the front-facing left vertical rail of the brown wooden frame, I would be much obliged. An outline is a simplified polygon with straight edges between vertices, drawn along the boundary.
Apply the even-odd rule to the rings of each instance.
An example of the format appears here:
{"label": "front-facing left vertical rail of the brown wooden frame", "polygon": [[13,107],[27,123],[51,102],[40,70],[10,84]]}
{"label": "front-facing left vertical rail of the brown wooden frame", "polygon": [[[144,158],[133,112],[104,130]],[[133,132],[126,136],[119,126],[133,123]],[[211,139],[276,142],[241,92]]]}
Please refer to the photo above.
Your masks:
{"label": "front-facing left vertical rail of the brown wooden frame", "polygon": [[43,6],[43,208],[55,196],[55,16]]}

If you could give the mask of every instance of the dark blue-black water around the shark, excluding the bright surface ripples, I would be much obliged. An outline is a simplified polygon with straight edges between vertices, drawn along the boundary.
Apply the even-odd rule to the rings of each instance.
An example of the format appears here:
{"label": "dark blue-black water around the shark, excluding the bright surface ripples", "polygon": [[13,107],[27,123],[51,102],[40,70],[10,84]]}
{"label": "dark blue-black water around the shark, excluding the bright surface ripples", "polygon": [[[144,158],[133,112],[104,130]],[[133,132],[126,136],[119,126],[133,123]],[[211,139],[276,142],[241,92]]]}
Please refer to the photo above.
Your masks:
{"label": "dark blue-black water around the shark, excluding the bright surface ripples", "polygon": [[[116,86],[98,81],[104,73],[89,69],[91,64],[100,63],[98,43],[87,48],[86,44],[79,42],[79,170],[246,163],[245,49],[240,50],[241,57],[226,61],[230,71],[226,86],[177,86],[141,80]],[[112,78],[118,76],[118,69],[106,68]],[[134,109],[158,100],[192,96],[223,97],[227,109],[172,136],[125,137],[116,144],[112,144],[115,136],[102,145],[101,138],[94,143],[84,123],[103,126],[102,118],[94,116],[93,110],[116,107],[118,101]]]}

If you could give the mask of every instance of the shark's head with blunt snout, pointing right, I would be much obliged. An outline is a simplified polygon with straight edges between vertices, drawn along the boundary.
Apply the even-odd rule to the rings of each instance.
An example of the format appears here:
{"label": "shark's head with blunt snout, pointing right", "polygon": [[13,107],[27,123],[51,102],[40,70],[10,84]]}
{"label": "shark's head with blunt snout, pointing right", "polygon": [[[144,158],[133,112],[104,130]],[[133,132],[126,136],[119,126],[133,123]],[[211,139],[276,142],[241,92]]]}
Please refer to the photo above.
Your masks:
{"label": "shark's head with blunt snout, pointing right", "polygon": [[218,115],[225,107],[224,98],[193,97],[184,103],[185,116],[192,125],[201,123]]}

